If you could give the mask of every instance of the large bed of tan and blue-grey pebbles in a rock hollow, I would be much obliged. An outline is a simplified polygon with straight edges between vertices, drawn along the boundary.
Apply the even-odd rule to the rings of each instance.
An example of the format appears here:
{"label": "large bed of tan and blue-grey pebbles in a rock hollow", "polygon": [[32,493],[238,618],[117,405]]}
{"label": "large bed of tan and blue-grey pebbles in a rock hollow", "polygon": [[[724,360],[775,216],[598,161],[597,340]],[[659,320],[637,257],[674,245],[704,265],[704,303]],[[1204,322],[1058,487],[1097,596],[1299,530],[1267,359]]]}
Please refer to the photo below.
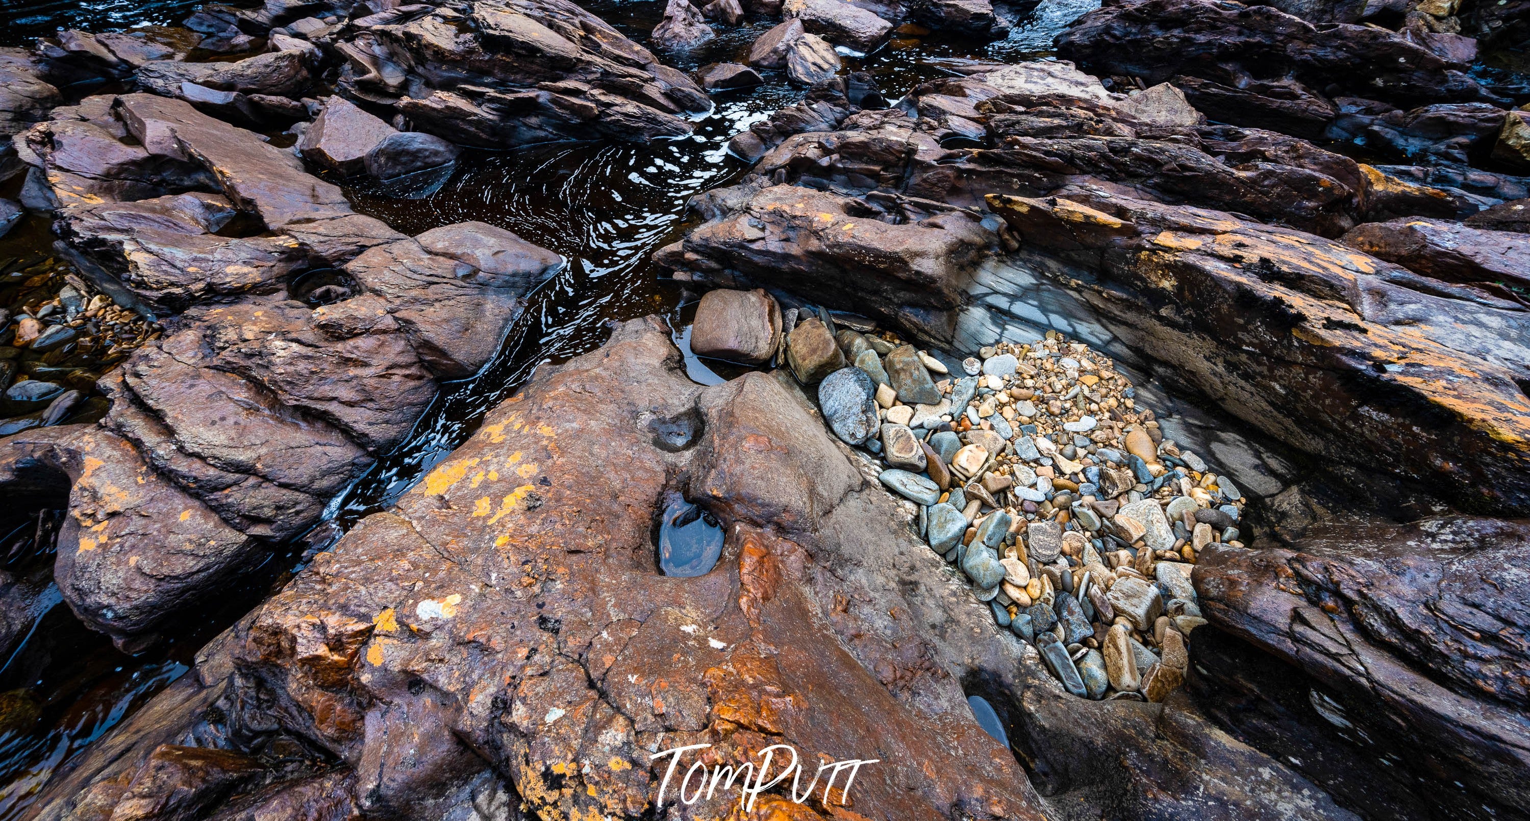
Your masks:
{"label": "large bed of tan and blue-grey pebbles in a rock hollow", "polygon": [[1160,702],[1180,686],[1206,624],[1196,553],[1241,546],[1232,480],[1164,439],[1108,356],[1057,332],[950,373],[890,333],[831,327],[797,324],[788,362],[805,381],[828,370],[817,393],[835,436],[918,506],[920,537],[998,624],[1074,696]]}

